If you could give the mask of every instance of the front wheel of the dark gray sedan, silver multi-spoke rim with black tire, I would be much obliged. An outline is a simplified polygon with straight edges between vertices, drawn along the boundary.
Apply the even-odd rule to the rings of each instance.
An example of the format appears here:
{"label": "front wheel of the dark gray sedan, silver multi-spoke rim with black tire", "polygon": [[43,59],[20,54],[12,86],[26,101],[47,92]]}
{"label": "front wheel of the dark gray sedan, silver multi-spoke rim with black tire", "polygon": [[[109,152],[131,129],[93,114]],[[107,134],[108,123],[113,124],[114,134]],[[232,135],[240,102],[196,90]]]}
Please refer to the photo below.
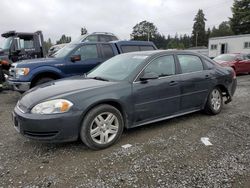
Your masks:
{"label": "front wheel of the dark gray sedan, silver multi-spoke rim with black tire", "polygon": [[123,128],[124,122],[120,111],[111,105],[100,105],[85,116],[80,138],[91,149],[104,149],[121,137]]}

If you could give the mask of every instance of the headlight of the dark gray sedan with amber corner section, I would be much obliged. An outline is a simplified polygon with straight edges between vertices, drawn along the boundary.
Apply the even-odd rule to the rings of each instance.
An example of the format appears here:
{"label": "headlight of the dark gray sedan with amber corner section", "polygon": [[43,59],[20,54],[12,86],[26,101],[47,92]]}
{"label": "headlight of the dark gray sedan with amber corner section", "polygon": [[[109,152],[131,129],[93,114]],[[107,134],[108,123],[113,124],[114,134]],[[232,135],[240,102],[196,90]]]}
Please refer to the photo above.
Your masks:
{"label": "headlight of the dark gray sedan with amber corner section", "polygon": [[58,114],[69,111],[73,106],[68,100],[55,99],[37,104],[31,110],[32,114]]}

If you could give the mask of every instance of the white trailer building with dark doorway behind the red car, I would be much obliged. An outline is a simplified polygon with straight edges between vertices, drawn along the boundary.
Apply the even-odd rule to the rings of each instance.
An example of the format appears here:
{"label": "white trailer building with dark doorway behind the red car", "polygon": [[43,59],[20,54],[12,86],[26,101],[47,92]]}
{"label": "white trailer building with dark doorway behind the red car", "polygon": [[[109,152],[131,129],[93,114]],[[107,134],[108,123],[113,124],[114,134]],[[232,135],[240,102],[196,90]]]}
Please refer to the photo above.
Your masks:
{"label": "white trailer building with dark doorway behind the red car", "polygon": [[208,47],[211,58],[226,53],[250,54],[250,34],[210,38]]}

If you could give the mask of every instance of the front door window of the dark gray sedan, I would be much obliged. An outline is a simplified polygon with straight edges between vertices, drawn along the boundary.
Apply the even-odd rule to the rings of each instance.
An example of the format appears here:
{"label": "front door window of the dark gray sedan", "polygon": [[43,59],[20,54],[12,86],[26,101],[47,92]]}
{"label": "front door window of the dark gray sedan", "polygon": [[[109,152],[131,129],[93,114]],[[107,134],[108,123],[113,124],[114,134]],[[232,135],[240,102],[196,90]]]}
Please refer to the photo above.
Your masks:
{"label": "front door window of the dark gray sedan", "polygon": [[162,56],[150,63],[144,73],[156,73],[159,77],[171,76],[175,74],[175,62],[172,55]]}

